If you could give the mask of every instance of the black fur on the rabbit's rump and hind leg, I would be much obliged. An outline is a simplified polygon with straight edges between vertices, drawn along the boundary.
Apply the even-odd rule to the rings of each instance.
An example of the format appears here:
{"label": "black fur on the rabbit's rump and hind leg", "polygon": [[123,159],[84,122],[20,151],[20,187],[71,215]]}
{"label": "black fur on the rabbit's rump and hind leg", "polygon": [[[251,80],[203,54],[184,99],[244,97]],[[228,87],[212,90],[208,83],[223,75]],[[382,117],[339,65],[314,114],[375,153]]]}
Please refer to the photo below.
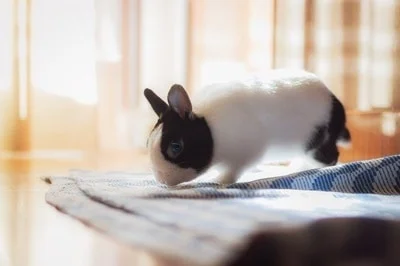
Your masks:
{"label": "black fur on the rabbit's rump and hind leg", "polygon": [[350,140],[346,128],[346,113],[342,103],[331,94],[332,104],[327,125],[318,125],[306,145],[306,151],[315,151],[314,159],[326,165],[337,163],[339,152],[336,146],[338,140]]}

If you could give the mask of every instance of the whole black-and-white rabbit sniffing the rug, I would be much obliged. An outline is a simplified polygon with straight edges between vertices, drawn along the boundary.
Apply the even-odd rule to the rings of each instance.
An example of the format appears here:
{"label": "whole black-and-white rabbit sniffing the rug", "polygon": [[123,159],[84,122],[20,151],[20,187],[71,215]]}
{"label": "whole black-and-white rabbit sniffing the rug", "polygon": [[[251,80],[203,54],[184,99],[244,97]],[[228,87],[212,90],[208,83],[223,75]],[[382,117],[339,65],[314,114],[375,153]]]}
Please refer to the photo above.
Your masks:
{"label": "whole black-and-white rabbit sniffing the rug", "polygon": [[[167,102],[146,88],[158,117],[147,147],[155,179],[167,186],[189,182],[212,166],[222,185],[238,181],[261,161],[337,164],[348,147],[342,103],[314,73],[275,69],[248,79],[205,86],[193,101],[173,84]],[[193,103],[192,103],[193,102]]]}

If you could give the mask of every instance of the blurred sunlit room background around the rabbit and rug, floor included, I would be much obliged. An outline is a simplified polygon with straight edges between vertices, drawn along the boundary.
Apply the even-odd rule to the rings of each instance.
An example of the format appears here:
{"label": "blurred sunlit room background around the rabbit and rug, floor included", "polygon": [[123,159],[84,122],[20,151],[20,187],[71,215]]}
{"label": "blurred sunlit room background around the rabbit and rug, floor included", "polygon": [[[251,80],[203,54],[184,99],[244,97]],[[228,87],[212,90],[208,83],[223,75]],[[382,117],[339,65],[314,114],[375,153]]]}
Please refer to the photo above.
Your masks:
{"label": "blurred sunlit room background around the rabbit and rug, floor included", "polygon": [[399,0],[0,0],[0,265],[140,264],[39,176],[148,170],[146,87],[305,68],[346,107],[342,162],[399,153],[399,44]]}

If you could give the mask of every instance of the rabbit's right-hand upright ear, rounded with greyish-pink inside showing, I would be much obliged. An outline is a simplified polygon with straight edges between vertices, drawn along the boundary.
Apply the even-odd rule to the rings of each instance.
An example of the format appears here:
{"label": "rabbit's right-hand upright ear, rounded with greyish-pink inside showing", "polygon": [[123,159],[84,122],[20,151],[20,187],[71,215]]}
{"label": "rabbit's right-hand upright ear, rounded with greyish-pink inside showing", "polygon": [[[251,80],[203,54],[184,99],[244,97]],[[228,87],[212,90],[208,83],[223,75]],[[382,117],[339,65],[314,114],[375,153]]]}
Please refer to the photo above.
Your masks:
{"label": "rabbit's right-hand upright ear, rounded with greyish-pink inside showing", "polygon": [[186,115],[189,117],[192,114],[192,103],[185,89],[179,85],[174,84],[168,92],[169,106],[174,110],[182,119]]}

